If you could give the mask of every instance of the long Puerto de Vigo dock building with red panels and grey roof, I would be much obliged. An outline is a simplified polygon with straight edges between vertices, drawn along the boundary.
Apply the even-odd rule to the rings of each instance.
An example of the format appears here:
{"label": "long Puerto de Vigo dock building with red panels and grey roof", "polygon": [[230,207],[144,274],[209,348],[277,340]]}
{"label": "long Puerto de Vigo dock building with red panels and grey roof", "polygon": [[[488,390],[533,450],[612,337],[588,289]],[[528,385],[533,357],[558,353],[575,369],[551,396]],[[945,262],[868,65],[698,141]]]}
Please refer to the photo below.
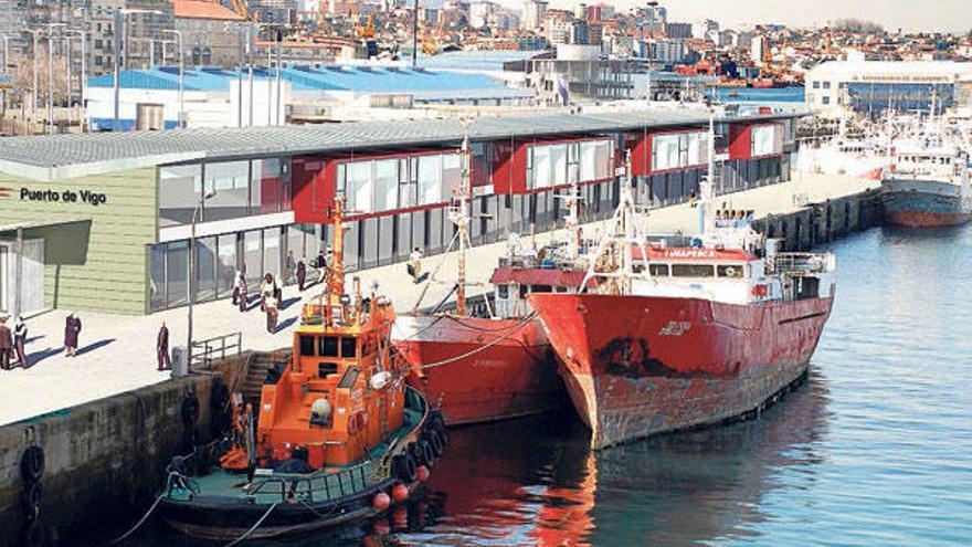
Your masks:
{"label": "long Puerto de Vigo dock building with red panels and grey roof", "polygon": [[[715,120],[722,192],[789,180],[797,114]],[[685,201],[705,171],[709,114],[633,111],[239,129],[22,137],[0,151],[0,308],[129,315],[229,297],[327,246],[347,199],[345,264],[440,253],[472,144],[474,244],[553,229],[578,185],[585,222],[606,218],[630,156],[637,199]],[[105,292],[101,287],[110,286]]]}

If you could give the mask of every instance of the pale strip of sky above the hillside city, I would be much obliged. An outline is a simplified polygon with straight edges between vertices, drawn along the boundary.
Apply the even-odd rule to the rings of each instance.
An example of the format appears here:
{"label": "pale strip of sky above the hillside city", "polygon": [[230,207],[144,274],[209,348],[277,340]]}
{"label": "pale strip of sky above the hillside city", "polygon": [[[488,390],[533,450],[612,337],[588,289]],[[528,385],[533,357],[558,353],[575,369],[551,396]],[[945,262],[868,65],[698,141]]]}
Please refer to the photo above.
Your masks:
{"label": "pale strip of sky above the hillside city", "polygon": [[[599,0],[587,0],[596,3]],[[647,0],[600,0],[622,10]],[[517,3],[501,0],[500,3]],[[572,8],[577,0],[551,0],[551,7]],[[723,27],[782,23],[789,27],[823,27],[837,19],[864,19],[887,30],[968,32],[972,30],[970,0],[677,0],[659,2],[668,20],[693,22],[715,19]]]}

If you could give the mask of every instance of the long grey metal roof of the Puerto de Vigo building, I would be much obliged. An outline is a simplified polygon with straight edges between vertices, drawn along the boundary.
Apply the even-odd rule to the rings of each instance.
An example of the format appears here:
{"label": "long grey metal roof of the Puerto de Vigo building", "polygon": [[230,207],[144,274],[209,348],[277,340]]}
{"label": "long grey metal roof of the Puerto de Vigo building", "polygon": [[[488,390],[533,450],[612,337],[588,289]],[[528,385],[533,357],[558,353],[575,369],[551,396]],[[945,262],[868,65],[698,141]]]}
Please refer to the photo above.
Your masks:
{"label": "long grey metal roof of the Puerto de Vigo building", "polygon": [[[772,119],[794,114],[719,118]],[[643,127],[702,125],[701,111],[634,111],[596,114],[524,114],[478,117],[473,140],[599,134]],[[456,145],[458,119],[362,122],[303,126],[196,128],[0,139],[0,172],[55,180],[198,159],[230,160],[271,155],[353,151],[423,145]]]}

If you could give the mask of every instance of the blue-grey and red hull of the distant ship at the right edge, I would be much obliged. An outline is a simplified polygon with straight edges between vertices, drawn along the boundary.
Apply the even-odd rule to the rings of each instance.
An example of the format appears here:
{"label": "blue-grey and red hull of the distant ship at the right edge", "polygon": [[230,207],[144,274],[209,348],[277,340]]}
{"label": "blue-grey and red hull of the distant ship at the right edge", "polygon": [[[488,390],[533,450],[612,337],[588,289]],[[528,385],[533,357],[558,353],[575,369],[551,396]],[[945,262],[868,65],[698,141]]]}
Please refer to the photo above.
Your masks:
{"label": "blue-grey and red hull of the distant ship at the right edge", "polygon": [[972,220],[970,198],[958,185],[937,180],[886,179],[881,181],[884,218],[906,228],[940,228]]}

